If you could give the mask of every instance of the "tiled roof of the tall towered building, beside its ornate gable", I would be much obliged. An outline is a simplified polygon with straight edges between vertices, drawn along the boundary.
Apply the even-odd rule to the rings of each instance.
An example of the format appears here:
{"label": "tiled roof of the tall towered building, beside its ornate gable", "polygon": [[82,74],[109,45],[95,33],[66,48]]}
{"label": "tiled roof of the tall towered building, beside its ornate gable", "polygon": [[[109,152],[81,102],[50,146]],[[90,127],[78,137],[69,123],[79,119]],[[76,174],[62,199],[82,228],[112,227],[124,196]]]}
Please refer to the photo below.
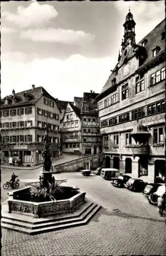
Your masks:
{"label": "tiled roof of the tall towered building, beside its ornate gable", "polygon": [[[141,39],[137,46],[141,46],[142,42],[147,39],[147,43],[145,45],[145,49],[147,51],[147,58],[145,59],[143,65],[148,63],[151,59],[153,59],[152,56],[152,50],[158,46],[160,48],[160,51],[157,53],[159,55],[162,51],[165,50],[165,40],[161,39],[161,33],[165,32],[165,19],[162,20],[149,34],[147,34],[143,39]],[[156,56],[157,56],[156,55]],[[117,64],[116,64],[117,66]],[[116,66],[114,70],[116,69]],[[101,94],[107,91],[112,87],[111,80],[115,77],[115,73],[112,72],[109,76],[108,80],[106,81]]]}

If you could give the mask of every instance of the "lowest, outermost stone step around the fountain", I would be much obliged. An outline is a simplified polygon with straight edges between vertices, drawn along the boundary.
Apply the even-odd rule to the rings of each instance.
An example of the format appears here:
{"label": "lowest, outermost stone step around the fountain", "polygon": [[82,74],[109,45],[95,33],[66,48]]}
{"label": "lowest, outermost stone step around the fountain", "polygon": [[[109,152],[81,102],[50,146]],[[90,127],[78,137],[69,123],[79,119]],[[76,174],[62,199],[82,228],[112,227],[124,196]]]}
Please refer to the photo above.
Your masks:
{"label": "lowest, outermost stone step around the fountain", "polygon": [[1,224],[1,226],[2,226],[2,228],[7,228],[10,230],[12,229],[12,230],[19,231],[22,233],[38,234],[38,233],[49,232],[49,231],[53,231],[53,230],[59,230],[59,229],[63,229],[63,228],[85,225],[93,217],[93,215],[96,214],[96,212],[100,208],[101,208],[100,205],[95,204],[95,207],[93,207],[93,209],[88,212],[88,214],[86,215],[86,217],[83,218],[83,220],[78,220],[75,222],[69,222],[69,223],[65,223],[65,224],[61,224],[59,222],[59,225],[52,224],[52,226],[49,226],[49,227],[42,227],[42,225],[41,225],[40,228],[31,229],[29,226],[20,227],[20,226],[12,225],[12,223],[3,223],[3,222]]}

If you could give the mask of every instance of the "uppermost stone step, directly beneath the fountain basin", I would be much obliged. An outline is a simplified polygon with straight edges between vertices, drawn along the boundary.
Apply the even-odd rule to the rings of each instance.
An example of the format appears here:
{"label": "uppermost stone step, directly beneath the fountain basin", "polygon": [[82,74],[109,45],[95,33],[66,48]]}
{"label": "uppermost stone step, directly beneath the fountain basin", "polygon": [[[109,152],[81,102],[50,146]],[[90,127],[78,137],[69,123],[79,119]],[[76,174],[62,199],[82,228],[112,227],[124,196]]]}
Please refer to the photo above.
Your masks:
{"label": "uppermost stone step, directly beneath the fountain basin", "polygon": [[50,221],[59,221],[59,220],[66,220],[66,219],[72,219],[72,218],[78,218],[80,217],[84,211],[86,211],[93,202],[90,202],[89,200],[86,200],[84,204],[80,205],[79,208],[76,208],[71,213],[65,213],[65,214],[56,214],[56,215],[50,215],[48,217],[41,217],[40,219],[34,219],[32,216],[28,215],[20,215],[16,213],[8,213],[8,205],[3,205],[2,209],[2,219],[11,221],[18,221],[23,223],[29,223],[29,224],[40,224],[40,223],[47,223]]}

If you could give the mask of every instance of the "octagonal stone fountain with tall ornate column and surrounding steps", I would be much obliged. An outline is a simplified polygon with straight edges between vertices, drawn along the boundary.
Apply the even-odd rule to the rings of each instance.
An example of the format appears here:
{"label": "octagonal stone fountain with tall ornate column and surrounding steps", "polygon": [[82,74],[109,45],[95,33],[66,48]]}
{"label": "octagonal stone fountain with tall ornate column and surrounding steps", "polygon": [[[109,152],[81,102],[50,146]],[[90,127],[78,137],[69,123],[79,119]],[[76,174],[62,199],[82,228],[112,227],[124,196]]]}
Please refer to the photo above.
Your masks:
{"label": "octagonal stone fountain with tall ornate column and surrounding steps", "polygon": [[[66,180],[53,180],[51,152],[49,148],[49,127],[45,128],[43,138],[43,167],[42,182],[13,190],[8,193],[8,205],[2,207],[1,225],[4,228],[17,230],[29,234],[51,231],[60,228],[83,225],[99,210],[96,203],[85,200],[85,192],[73,187],[60,186]],[[66,195],[65,199],[56,199],[52,194],[54,185]],[[39,188],[40,186],[40,188]],[[45,190],[46,200],[33,201],[32,190],[39,193]],[[40,195],[41,196],[41,195]],[[21,216],[25,215],[25,218]]]}

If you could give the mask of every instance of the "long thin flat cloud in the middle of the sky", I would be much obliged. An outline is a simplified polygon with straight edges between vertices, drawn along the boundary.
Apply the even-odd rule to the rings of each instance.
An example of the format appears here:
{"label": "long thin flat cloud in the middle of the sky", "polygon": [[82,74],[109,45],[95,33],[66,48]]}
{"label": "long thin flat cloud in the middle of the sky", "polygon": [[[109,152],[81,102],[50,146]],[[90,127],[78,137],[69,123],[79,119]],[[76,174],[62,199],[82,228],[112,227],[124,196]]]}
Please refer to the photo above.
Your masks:
{"label": "long thin flat cloud in the middle of the sky", "polygon": [[94,39],[94,35],[85,33],[82,30],[65,30],[65,29],[29,29],[21,31],[21,38],[28,38],[33,41],[61,42],[64,44],[84,45]]}

